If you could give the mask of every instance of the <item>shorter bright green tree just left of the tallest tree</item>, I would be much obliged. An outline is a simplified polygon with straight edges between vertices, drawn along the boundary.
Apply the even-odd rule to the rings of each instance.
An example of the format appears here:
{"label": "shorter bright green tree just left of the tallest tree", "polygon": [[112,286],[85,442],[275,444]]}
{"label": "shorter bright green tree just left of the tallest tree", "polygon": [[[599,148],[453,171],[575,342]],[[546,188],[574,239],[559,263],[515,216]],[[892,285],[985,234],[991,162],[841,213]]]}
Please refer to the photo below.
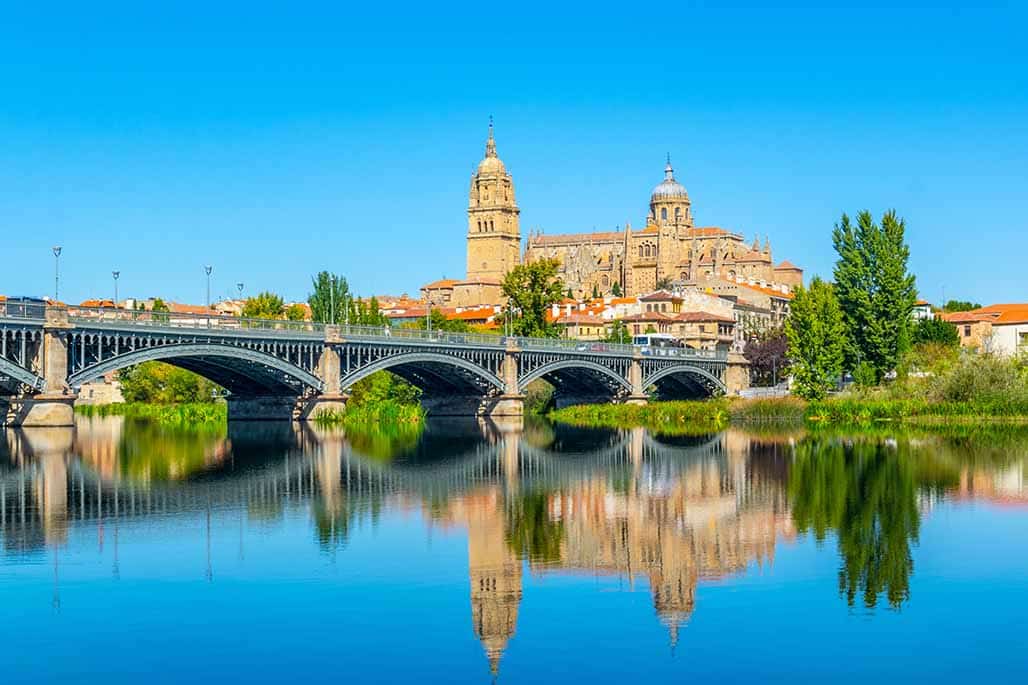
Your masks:
{"label": "shorter bright green tree just left of the tallest tree", "polygon": [[845,325],[832,284],[819,278],[799,286],[785,321],[787,354],[797,395],[823,398],[842,373]]}

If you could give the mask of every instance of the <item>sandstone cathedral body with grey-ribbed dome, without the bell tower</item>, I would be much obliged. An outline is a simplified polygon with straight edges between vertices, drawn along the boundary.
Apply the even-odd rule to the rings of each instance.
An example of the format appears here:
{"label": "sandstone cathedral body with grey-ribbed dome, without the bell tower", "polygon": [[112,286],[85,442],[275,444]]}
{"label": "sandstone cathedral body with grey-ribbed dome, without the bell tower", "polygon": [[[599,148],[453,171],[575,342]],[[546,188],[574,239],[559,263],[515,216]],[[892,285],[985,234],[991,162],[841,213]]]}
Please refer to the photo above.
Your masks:
{"label": "sandstone cathedral body with grey-ribbed dome, without the bell tower", "polygon": [[783,261],[774,265],[771,244],[746,244],[740,233],[696,226],[689,193],[674,178],[670,158],[664,180],[650,195],[646,226],[624,230],[528,237],[525,261],[557,259],[561,279],[579,296],[610,293],[615,284],[626,295],[658,286],[704,284],[727,279],[769,284],[788,291],[803,282],[803,269]]}

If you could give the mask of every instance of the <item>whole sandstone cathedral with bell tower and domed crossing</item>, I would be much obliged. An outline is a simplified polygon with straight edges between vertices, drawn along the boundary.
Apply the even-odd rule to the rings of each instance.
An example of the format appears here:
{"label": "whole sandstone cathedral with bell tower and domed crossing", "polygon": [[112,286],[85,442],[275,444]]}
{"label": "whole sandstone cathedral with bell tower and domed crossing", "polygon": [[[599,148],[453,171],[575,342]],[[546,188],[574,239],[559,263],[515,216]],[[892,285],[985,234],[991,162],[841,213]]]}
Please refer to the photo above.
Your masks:
{"label": "whole sandstone cathedral with bell tower and domed crossing", "polygon": [[[455,307],[495,304],[501,282],[520,263],[521,230],[514,180],[497,153],[489,122],[485,156],[472,175],[468,197],[468,277],[437,281],[423,288],[433,303]],[[787,261],[777,265],[771,244],[714,226],[697,226],[686,187],[674,178],[668,156],[664,179],[650,193],[642,228],[528,237],[523,260],[556,259],[560,277],[577,297],[626,296],[673,284],[713,292],[719,285],[740,283],[792,290],[803,283],[803,269]]]}

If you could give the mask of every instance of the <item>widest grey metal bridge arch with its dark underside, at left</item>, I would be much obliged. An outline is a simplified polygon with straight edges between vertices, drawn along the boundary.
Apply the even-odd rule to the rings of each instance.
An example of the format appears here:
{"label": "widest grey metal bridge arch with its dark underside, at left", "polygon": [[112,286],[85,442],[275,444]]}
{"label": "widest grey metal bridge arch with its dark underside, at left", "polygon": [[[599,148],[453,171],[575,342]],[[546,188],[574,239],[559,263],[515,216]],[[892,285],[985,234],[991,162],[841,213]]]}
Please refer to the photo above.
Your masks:
{"label": "widest grey metal bridge arch with its dark underside, at left", "polygon": [[273,355],[226,345],[184,344],[143,348],[117,355],[76,371],[68,384],[78,388],[111,371],[146,361],[160,361],[185,368],[217,383],[233,394],[294,395],[296,386],[321,391],[321,378]]}

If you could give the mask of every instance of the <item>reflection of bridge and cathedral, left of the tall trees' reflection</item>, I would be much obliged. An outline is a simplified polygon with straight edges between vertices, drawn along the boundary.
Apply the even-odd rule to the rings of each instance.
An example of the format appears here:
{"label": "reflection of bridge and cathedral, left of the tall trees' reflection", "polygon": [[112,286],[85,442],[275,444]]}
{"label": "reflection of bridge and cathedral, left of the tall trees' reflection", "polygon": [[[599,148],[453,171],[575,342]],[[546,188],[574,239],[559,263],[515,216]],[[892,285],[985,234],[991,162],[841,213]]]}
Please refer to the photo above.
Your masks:
{"label": "reflection of bridge and cathedral, left of the tall trees' reflection", "polygon": [[172,440],[119,417],[9,430],[3,545],[42,552],[78,529],[116,545],[119,528],[140,519],[207,512],[210,521],[212,510],[242,508],[306,509],[318,543],[340,548],[376,511],[420,509],[432,527],[467,532],[474,630],[495,672],[516,630],[525,562],[534,573],[646,579],[673,646],[697,583],[772,561],[793,535],[781,445],[739,433],[662,440],[469,420],[366,437],[277,423]]}

